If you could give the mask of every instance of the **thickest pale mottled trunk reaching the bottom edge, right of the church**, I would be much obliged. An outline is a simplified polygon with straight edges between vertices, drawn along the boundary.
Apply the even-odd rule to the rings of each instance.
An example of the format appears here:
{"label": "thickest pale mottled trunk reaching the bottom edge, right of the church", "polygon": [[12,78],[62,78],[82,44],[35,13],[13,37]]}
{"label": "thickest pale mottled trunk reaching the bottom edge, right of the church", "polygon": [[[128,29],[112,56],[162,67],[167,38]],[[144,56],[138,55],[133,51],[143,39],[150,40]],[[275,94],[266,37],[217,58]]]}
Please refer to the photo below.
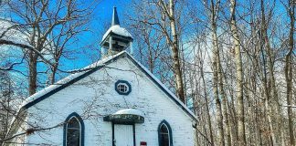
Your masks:
{"label": "thickest pale mottled trunk reaching the bottom edge, right of the church", "polygon": [[236,0],[230,0],[231,22],[230,28],[234,38],[236,70],[237,70],[237,107],[238,107],[238,145],[246,145],[245,115],[243,97],[243,70],[236,22]]}

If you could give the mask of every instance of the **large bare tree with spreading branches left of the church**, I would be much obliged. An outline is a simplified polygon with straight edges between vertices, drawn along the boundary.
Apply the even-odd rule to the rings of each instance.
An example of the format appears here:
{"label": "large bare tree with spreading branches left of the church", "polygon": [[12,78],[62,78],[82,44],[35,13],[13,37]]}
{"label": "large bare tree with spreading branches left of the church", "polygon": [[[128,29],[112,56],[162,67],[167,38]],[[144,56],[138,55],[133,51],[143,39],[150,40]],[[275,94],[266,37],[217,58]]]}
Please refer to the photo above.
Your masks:
{"label": "large bare tree with spreading branches left of the church", "polygon": [[[72,33],[70,36],[75,35],[78,31],[77,26],[85,24],[85,21],[90,16],[90,9],[84,8],[77,1],[71,0],[58,0],[55,6],[49,6],[48,0],[14,0],[7,2],[7,6],[10,13],[15,16],[14,19],[16,19],[16,25],[8,27],[7,30],[16,26],[22,26],[22,30],[26,34],[26,43],[4,39],[3,36],[5,36],[5,32],[7,31],[3,31],[4,33],[0,37],[0,45],[10,45],[27,49],[28,92],[29,95],[32,95],[37,91],[38,59],[41,58],[49,66],[56,66],[43,55],[44,51],[46,51],[45,48],[54,43],[57,45],[57,41],[59,41],[58,37],[67,35],[58,33],[60,27],[70,25],[68,27],[69,34]],[[67,39],[69,38],[65,38],[64,41]]]}

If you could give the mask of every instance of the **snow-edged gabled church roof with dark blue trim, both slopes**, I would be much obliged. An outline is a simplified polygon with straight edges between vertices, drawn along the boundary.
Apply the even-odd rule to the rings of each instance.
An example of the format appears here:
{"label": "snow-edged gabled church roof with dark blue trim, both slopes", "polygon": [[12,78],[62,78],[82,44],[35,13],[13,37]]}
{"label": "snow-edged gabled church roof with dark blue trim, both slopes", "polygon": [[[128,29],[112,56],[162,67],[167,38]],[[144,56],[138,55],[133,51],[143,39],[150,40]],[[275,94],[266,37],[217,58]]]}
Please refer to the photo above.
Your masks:
{"label": "snow-edged gabled church roof with dark blue trim, both slopes", "polygon": [[158,78],[156,78],[147,68],[143,67],[143,65],[141,63],[139,63],[135,58],[133,58],[126,51],[122,51],[121,53],[118,53],[117,55],[101,59],[100,61],[98,61],[96,63],[93,63],[90,66],[82,69],[82,70],[86,70],[86,71],[81,71],[81,72],[78,72],[78,73],[75,73],[75,74],[71,74],[69,77],[59,80],[56,84],[51,85],[48,88],[45,88],[45,89],[42,89],[42,90],[38,91],[37,93],[35,93],[32,96],[28,97],[24,101],[24,103],[22,104],[22,108],[23,109],[28,109],[28,108],[34,106],[35,104],[37,104],[41,100],[47,99],[51,95],[57,93],[59,90],[69,87],[69,85],[79,81],[81,78],[85,78],[85,77],[89,76],[91,73],[99,70],[100,68],[103,68],[105,65],[113,62],[114,60],[116,60],[116,59],[118,59],[120,57],[128,57],[132,61],[132,63],[136,67],[140,68],[141,71],[143,71],[143,73],[148,78],[153,80],[153,83],[155,83],[158,88],[162,89],[164,91],[164,93],[170,99],[172,99],[174,101],[175,104],[177,104],[182,110],[184,110],[193,120],[196,120],[195,114],[191,110],[189,110],[185,106],[185,104],[174,95],[174,93],[172,91],[167,89],[164,86],[164,84]]}

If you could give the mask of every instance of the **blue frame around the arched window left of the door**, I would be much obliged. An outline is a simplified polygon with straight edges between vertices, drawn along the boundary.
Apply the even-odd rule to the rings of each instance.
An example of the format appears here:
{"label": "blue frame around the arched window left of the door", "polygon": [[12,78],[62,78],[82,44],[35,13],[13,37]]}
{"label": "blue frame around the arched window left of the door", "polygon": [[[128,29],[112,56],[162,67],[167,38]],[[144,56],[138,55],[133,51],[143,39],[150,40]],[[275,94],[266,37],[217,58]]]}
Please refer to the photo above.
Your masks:
{"label": "blue frame around the arched window left of the door", "polygon": [[67,146],[68,122],[75,118],[79,122],[79,146],[84,146],[84,122],[78,113],[71,113],[64,122],[63,146]]}

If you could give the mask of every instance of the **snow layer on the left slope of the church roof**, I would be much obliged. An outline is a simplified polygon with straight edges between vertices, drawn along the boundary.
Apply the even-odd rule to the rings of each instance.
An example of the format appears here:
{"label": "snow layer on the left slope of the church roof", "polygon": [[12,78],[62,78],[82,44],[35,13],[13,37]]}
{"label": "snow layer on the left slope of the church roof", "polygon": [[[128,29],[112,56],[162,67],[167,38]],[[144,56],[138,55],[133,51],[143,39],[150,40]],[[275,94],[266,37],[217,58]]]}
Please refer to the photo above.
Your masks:
{"label": "snow layer on the left slope of the church roof", "polygon": [[66,78],[63,78],[61,80],[59,80],[57,83],[53,84],[53,85],[50,85],[48,86],[47,88],[45,89],[41,89],[40,91],[38,91],[37,93],[29,96],[28,98],[26,98],[26,100],[23,102],[23,104],[21,105],[21,108],[26,106],[26,104],[46,95],[48,92],[54,90],[54,89],[58,89],[58,87],[68,83],[70,80],[72,79],[75,79],[75,78],[78,78],[79,76],[83,75],[84,73],[90,71],[91,69],[93,68],[97,68],[97,67],[100,67],[100,66],[104,66],[104,63],[111,60],[112,58],[114,57],[117,57],[117,56],[120,56],[122,55],[124,52],[122,51],[121,53],[117,54],[117,55],[113,55],[113,56],[110,56],[110,57],[105,57],[93,64],[91,64],[90,66],[88,67],[85,67],[85,68],[82,68],[82,69],[78,69],[77,71],[79,70],[83,70],[83,71],[79,71],[77,73],[73,73],[71,75],[69,75],[68,77]]}

